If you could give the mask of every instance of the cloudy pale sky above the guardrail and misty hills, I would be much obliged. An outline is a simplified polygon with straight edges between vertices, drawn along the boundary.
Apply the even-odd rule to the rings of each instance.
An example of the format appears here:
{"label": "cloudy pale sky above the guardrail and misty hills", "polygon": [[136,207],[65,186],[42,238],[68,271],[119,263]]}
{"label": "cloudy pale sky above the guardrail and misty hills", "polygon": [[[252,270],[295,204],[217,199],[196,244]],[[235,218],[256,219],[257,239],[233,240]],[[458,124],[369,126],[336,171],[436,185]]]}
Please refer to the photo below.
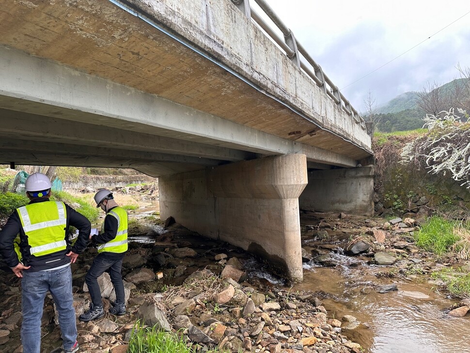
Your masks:
{"label": "cloudy pale sky above the guardrail and misty hills", "polygon": [[458,78],[458,63],[470,66],[470,14],[433,35],[469,13],[469,0],[267,2],[359,111],[369,89],[381,104],[428,81]]}

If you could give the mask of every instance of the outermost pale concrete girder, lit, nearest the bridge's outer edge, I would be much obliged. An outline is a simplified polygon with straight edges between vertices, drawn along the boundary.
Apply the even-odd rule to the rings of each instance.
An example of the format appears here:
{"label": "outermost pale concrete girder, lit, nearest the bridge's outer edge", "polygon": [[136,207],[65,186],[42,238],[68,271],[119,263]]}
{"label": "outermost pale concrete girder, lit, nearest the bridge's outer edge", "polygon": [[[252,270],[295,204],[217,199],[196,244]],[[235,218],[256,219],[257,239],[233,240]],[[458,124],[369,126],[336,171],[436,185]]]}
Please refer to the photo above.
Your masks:
{"label": "outermost pale concrete girder, lit, nearest the bridge's outer edge", "polygon": [[314,162],[357,164],[341,154],[285,140],[16,49],[0,46],[0,71],[0,95],[4,96],[0,104],[11,110],[264,155],[302,153]]}

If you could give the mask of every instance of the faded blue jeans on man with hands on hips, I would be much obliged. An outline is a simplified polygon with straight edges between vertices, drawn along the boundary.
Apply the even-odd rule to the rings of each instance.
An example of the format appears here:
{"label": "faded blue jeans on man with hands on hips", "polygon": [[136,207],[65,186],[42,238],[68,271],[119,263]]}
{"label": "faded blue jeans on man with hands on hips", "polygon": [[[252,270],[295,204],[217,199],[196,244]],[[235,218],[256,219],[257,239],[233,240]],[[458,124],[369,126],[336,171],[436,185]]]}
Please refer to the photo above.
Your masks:
{"label": "faded blue jeans on man with hands on hips", "polygon": [[41,318],[47,291],[52,294],[59,313],[63,347],[68,349],[77,339],[77,325],[72,294],[70,266],[52,271],[23,272],[21,280],[23,323],[21,341],[23,353],[40,353]]}

